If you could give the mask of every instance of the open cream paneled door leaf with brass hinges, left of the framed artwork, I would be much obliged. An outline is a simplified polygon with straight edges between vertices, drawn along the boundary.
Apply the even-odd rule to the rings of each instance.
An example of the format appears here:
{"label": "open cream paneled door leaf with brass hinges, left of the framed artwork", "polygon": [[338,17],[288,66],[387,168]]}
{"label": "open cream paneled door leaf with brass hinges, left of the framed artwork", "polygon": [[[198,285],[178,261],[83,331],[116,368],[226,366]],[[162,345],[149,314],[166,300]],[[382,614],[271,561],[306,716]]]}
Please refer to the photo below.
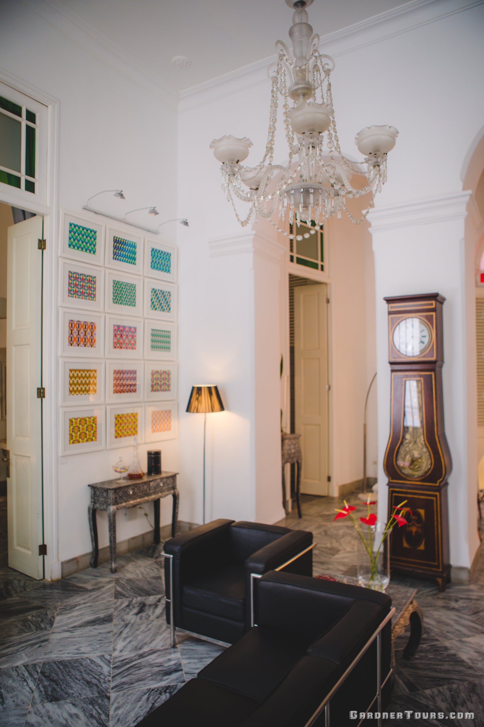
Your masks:
{"label": "open cream paneled door leaf with brass hinges, left of the framed artwork", "polygon": [[42,217],[12,225],[7,254],[7,479],[9,566],[43,577],[41,400]]}

